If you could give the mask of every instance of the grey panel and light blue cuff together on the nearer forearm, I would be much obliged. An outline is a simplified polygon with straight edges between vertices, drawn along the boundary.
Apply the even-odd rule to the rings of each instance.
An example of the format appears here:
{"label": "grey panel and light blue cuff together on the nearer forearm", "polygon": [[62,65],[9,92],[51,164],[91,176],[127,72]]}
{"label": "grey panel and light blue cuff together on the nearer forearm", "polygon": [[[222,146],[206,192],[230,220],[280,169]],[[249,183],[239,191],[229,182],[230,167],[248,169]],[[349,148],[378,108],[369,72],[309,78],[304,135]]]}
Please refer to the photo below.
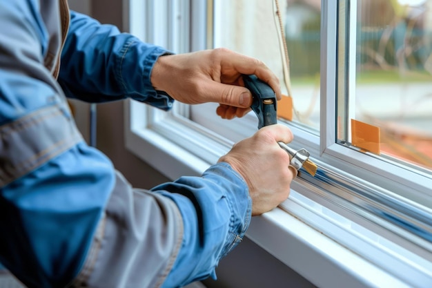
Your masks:
{"label": "grey panel and light blue cuff together on the nearer forearm", "polygon": [[153,191],[131,189],[117,175],[104,215],[74,284],[183,287],[215,276],[219,260],[244,236],[251,200],[239,175],[217,164],[203,177]]}

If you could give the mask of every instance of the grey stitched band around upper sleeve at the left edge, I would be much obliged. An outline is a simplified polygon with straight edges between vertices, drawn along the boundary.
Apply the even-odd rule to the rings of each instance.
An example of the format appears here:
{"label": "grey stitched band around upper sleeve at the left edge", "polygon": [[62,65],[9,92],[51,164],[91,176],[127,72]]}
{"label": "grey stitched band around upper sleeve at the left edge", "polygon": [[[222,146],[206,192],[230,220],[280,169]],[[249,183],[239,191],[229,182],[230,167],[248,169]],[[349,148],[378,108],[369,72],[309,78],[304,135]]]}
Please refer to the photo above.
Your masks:
{"label": "grey stitched band around upper sleeve at the left edge", "polygon": [[[28,141],[31,139],[31,141]],[[0,186],[29,173],[81,141],[59,106],[48,106],[0,126]]]}

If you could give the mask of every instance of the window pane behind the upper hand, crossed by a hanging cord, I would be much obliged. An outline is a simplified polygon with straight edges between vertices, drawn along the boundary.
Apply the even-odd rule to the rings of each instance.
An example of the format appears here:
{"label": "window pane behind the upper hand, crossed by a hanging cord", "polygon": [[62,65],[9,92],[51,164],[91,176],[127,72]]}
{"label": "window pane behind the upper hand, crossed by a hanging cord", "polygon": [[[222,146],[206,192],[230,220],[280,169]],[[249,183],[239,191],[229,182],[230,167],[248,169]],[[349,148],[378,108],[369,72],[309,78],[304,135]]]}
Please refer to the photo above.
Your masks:
{"label": "window pane behind the upper hand, crossed by a hanging cord", "polygon": [[[289,55],[293,121],[317,133],[320,123],[320,0],[215,0],[215,47],[230,48],[264,61],[279,76],[282,92],[288,95],[276,2]],[[279,106],[279,110],[282,108]]]}

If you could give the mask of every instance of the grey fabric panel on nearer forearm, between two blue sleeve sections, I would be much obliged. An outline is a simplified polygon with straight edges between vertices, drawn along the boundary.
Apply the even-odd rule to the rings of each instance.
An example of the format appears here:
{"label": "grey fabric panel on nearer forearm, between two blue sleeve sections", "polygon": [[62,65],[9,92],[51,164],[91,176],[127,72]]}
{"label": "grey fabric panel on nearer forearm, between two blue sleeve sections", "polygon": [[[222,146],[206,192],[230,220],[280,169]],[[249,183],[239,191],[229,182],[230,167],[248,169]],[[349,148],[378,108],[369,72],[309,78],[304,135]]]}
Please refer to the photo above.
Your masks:
{"label": "grey fabric panel on nearer forearm, between two blue sleeve sections", "polygon": [[160,287],[182,239],[183,220],[174,202],[132,189],[117,172],[86,263],[70,287]]}

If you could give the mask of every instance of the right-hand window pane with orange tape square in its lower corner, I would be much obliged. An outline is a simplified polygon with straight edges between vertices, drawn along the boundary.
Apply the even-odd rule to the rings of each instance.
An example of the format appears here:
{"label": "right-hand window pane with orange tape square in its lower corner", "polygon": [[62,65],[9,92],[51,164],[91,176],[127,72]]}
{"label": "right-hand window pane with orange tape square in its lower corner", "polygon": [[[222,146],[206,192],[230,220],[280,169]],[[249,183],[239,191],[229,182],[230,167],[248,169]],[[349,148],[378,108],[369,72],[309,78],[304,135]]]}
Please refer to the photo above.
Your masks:
{"label": "right-hand window pane with orange tape square in its lower corner", "polygon": [[341,2],[338,139],[432,169],[432,1]]}

